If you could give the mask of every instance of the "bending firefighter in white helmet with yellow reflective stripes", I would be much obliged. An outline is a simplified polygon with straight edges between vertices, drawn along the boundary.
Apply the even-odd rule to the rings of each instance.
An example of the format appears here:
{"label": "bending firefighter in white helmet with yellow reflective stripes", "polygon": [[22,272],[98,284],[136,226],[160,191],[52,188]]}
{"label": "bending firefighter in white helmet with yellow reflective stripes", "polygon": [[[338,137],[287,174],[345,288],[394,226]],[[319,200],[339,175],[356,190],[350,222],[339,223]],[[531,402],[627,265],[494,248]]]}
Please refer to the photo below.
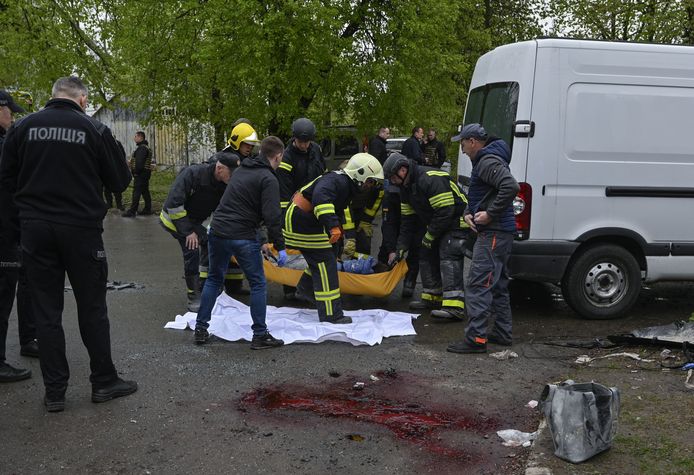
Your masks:
{"label": "bending firefighter in white helmet with yellow reflective stripes", "polygon": [[358,153],[344,169],[326,173],[302,187],[287,208],[282,231],[285,243],[301,251],[309,266],[297,285],[297,298],[315,301],[321,322],[352,323],[342,312],[337,275],[344,210],[360,189],[379,186],[382,180],[378,160]]}

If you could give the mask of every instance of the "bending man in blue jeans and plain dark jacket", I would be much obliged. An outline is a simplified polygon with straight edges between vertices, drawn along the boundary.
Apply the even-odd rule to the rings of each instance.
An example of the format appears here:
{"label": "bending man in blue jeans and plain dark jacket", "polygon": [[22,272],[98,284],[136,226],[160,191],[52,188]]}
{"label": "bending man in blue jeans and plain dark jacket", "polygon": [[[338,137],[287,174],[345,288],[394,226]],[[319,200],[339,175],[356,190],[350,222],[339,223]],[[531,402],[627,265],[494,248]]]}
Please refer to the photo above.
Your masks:
{"label": "bending man in blue jeans and plain dark jacket", "polygon": [[209,339],[207,328],[217,296],[222,292],[224,274],[229,259],[234,256],[251,287],[251,318],[253,319],[252,350],[282,346],[267,330],[267,284],[263,271],[263,251],[258,230],[261,223],[267,227],[268,238],[279,251],[278,265],[287,261],[282,237],[282,211],[279,182],[275,170],[282,161],[284,144],[274,136],[260,143],[260,155],[247,157],[234,172],[214,212],[207,246],[209,274],[200,299],[200,310],[195,324],[195,343],[202,345]]}

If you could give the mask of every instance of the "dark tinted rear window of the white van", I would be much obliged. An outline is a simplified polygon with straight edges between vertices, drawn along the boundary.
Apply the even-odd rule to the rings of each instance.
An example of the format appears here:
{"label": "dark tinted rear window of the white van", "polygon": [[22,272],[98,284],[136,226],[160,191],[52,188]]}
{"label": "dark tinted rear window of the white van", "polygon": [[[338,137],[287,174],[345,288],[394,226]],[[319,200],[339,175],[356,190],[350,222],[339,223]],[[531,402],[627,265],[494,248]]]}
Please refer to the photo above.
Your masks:
{"label": "dark tinted rear window of the white van", "polygon": [[470,91],[465,125],[478,122],[513,149],[513,123],[518,109],[517,82],[485,84]]}

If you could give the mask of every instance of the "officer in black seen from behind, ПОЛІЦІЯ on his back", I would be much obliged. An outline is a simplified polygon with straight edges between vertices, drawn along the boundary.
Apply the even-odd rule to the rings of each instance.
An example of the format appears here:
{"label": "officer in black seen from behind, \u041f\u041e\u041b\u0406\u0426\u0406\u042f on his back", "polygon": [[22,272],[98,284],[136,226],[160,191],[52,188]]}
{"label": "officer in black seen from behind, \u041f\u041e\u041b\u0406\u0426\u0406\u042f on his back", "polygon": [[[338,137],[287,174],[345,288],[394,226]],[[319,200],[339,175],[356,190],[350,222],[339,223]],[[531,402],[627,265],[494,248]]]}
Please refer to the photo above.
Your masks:
{"label": "officer in black seen from behind, \u041f\u041e\u041b\u0406\u0426\u0406\u042f on his back", "polygon": [[7,134],[0,186],[13,193],[16,208],[0,212],[4,219],[21,220],[44,404],[49,412],[58,412],[65,408],[70,376],[62,327],[66,273],[89,352],[92,402],[127,396],[137,384],[119,378],[111,359],[101,237],[106,214],[102,187],[123,191],[131,179],[128,164],[109,128],[84,113],[87,88],[79,78],[58,79],[52,96],[43,110],[17,121]]}

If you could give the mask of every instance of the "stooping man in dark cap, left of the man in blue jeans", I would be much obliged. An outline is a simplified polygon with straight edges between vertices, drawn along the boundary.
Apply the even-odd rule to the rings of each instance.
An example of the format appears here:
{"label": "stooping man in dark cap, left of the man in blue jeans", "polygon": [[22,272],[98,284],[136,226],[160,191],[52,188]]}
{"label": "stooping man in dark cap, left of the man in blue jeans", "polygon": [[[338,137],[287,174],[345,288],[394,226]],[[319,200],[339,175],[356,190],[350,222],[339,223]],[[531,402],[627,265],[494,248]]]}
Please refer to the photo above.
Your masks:
{"label": "stooping man in dark cap, left of the man in blue jeans", "polygon": [[235,153],[217,152],[210,162],[183,169],[171,185],[159,215],[160,224],[178,241],[183,252],[183,275],[191,312],[197,312],[200,307],[200,255],[207,249],[207,229],[203,222],[219,205],[232,171],[239,163]]}

